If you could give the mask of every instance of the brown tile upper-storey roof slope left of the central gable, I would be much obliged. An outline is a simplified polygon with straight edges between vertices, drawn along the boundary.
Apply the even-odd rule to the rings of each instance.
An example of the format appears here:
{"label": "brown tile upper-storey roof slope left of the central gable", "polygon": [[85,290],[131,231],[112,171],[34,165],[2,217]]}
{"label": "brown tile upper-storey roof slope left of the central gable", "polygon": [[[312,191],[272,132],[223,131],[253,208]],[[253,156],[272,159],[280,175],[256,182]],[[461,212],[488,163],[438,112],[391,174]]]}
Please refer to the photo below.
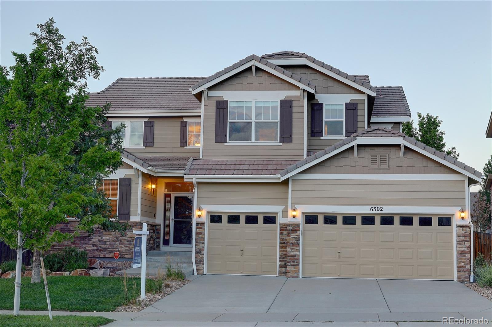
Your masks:
{"label": "brown tile upper-storey roof slope left of the central gable", "polygon": [[201,109],[190,92],[204,77],[119,78],[100,92],[89,93],[86,106],[111,103],[112,110]]}

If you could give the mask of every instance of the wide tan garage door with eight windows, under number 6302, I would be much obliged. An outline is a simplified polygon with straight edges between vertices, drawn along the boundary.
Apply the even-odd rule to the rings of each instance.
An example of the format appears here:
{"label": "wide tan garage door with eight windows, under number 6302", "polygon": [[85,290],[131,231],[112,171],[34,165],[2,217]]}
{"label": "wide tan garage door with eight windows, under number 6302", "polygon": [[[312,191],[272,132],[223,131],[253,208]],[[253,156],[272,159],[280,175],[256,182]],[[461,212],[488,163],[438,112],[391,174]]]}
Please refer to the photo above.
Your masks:
{"label": "wide tan garage door with eight windows, under number 6302", "polygon": [[453,279],[445,215],[303,215],[305,277]]}

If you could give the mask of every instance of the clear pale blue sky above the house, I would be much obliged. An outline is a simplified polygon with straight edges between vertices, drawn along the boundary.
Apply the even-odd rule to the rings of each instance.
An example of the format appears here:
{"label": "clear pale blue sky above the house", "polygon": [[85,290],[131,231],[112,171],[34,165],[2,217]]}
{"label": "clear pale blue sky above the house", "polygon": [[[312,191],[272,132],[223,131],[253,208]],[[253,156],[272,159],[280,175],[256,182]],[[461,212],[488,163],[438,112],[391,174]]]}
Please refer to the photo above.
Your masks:
{"label": "clear pale blue sky above the house", "polygon": [[[307,53],[374,86],[402,85],[412,112],[442,120],[448,147],[482,171],[492,153],[491,1],[1,1],[0,63],[32,49],[53,17],[67,41],[87,36],[119,77],[209,76],[245,58]],[[476,188],[472,189],[472,191]]]}

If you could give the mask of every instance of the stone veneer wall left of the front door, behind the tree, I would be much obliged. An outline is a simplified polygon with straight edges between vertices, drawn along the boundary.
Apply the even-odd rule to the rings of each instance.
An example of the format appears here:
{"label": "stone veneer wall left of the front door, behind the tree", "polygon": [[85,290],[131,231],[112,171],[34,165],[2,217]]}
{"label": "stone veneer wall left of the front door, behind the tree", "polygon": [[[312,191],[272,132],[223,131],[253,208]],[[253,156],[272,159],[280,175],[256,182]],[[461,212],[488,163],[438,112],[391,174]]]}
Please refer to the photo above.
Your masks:
{"label": "stone veneer wall left of the front door, behind the tree", "polygon": [[[133,257],[133,239],[136,234],[132,231],[135,229],[142,230],[141,221],[126,221],[128,229],[122,236],[120,232],[104,231],[102,229],[94,230],[94,234],[89,236],[82,232],[73,238],[73,241],[65,241],[54,244],[47,252],[55,252],[63,249],[65,246],[75,246],[81,250],[87,251],[87,256],[90,258],[113,258],[114,252],[120,252],[120,258]],[[73,233],[77,225],[76,221],[69,221],[56,225],[53,230],[59,230],[62,233]],[[147,223],[147,250],[160,249],[160,224]]]}

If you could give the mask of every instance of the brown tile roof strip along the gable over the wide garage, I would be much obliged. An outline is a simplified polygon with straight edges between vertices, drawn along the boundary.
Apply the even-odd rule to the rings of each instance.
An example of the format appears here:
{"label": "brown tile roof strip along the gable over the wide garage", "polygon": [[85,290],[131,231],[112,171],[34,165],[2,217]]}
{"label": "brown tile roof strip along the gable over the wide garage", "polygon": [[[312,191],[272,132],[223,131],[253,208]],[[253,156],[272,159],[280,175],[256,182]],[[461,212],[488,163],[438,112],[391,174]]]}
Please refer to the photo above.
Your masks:
{"label": "brown tile roof strip along the gable over the wide garage", "polygon": [[[282,178],[282,180],[283,180],[283,179],[289,177],[290,175],[296,174],[296,173],[310,167],[312,164],[315,164],[316,162],[315,163],[312,163],[312,162],[314,162],[315,160],[317,160],[319,158],[321,158],[320,160],[328,159],[330,156],[327,156],[327,155],[329,155],[332,152],[333,152],[333,154],[337,153],[337,152],[335,152],[335,150],[341,148],[342,146],[344,146],[346,144],[349,144],[349,143],[356,141],[358,138],[363,139],[364,137],[373,137],[373,136],[377,136],[377,137],[401,137],[403,141],[407,142],[406,143],[407,145],[409,144],[410,146],[415,146],[416,148],[422,149],[422,150],[428,152],[430,155],[436,156],[437,158],[442,159],[446,162],[449,162],[451,165],[456,166],[455,169],[456,168],[464,169],[464,171],[473,175],[475,180],[478,180],[478,181],[481,180],[482,173],[480,171],[476,170],[475,168],[470,167],[466,164],[463,164],[460,161],[454,159],[453,157],[448,156],[443,152],[437,151],[434,148],[431,148],[430,146],[427,146],[422,142],[419,142],[419,141],[417,141],[411,137],[405,136],[403,133],[397,132],[397,131],[389,129],[389,128],[382,128],[382,127],[371,127],[371,128],[368,128],[362,132],[354,133],[352,136],[344,138],[343,140],[335,143],[334,145],[329,146],[326,149],[321,150],[319,152],[316,152],[315,154],[307,157],[306,159],[303,159],[301,161],[296,162],[295,164],[292,164],[292,165],[286,167],[284,170],[279,172],[279,175],[281,177],[283,177]],[[309,163],[312,163],[312,164],[309,164]],[[302,167],[302,169],[299,169],[301,167]],[[288,174],[289,174],[289,176],[287,176]]]}

